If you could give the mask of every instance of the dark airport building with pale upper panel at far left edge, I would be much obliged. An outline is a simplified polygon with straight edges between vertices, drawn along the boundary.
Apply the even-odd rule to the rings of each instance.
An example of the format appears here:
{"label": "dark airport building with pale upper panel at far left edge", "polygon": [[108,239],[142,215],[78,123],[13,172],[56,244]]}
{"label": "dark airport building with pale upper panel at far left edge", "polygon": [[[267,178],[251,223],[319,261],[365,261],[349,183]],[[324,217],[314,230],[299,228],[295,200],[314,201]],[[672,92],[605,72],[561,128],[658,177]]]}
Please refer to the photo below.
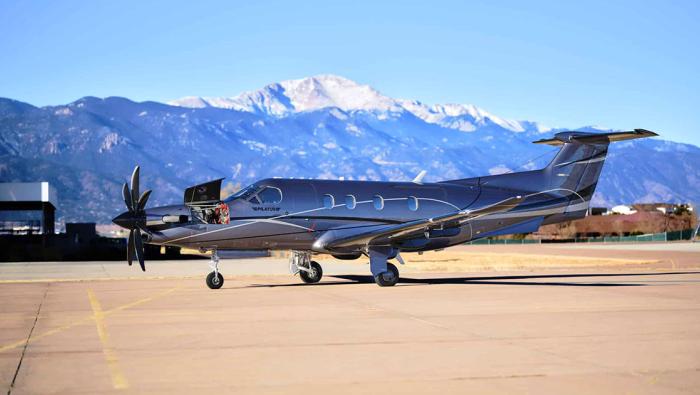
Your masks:
{"label": "dark airport building with pale upper panel at far left edge", "polygon": [[0,183],[0,233],[53,234],[57,205],[48,182]]}

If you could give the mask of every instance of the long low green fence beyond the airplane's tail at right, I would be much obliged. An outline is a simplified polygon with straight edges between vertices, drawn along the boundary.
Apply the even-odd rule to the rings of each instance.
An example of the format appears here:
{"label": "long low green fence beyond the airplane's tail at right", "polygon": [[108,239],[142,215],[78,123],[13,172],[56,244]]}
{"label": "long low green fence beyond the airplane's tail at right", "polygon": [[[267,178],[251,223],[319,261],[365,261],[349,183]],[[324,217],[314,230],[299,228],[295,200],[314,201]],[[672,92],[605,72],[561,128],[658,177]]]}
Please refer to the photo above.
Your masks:
{"label": "long low green fence beyond the airplane's tail at right", "polygon": [[691,240],[695,236],[694,229],[676,230],[673,232],[650,233],[637,236],[605,236],[605,237],[583,237],[577,239],[555,239],[555,240],[538,240],[538,239],[478,239],[467,242],[466,244],[539,244],[539,243],[639,243],[650,241],[677,241]]}

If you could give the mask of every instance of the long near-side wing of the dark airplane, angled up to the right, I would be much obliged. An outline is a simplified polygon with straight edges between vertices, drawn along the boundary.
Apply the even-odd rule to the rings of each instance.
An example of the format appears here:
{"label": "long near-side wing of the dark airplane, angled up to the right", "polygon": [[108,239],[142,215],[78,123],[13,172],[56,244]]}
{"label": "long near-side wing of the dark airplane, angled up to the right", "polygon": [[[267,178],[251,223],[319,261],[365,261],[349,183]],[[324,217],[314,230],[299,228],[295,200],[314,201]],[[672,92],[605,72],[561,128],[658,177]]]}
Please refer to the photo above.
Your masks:
{"label": "long near-side wing of the dark airplane, angled up to the right", "polygon": [[515,196],[474,210],[460,210],[433,218],[424,218],[396,225],[387,225],[385,227],[373,229],[367,232],[340,236],[330,240],[322,240],[322,245],[319,247],[323,247],[327,250],[333,250],[357,245],[368,245],[379,239],[387,239],[389,242],[391,242],[400,239],[402,236],[438,228],[448,223],[462,222],[493,213],[510,211],[519,205],[523,200],[525,199],[522,196]]}

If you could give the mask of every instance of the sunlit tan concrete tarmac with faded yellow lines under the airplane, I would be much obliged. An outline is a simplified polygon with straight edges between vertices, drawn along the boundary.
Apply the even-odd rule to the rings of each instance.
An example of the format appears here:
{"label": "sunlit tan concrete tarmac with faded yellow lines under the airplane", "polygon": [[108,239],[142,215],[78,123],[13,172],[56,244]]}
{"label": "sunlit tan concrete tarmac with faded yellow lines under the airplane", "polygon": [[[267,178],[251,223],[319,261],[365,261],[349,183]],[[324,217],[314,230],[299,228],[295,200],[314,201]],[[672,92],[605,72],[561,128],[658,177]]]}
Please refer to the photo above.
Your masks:
{"label": "sunlit tan concrete tarmac with faded yellow lines under the airplane", "polygon": [[[0,264],[0,387],[25,393],[698,393],[700,245],[527,246],[654,266],[402,272],[282,259]],[[512,246],[469,246],[513,251]],[[525,246],[523,246],[525,247]],[[575,248],[574,248],[575,247]],[[618,245],[619,247],[619,245]]]}

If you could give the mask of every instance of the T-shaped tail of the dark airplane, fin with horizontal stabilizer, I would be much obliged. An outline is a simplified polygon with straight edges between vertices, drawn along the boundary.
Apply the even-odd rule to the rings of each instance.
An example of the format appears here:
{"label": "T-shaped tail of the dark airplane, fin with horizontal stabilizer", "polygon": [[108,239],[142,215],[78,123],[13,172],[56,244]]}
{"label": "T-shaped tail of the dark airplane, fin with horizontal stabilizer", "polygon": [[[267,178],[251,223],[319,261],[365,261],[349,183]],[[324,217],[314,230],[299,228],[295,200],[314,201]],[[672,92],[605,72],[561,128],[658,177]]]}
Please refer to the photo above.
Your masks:
{"label": "T-shaped tail of the dark airplane, fin with horizontal stabilizer", "polygon": [[[545,184],[549,189],[570,191],[579,199],[571,201],[576,205],[572,211],[588,209],[598,177],[611,142],[657,136],[656,133],[635,129],[630,132],[586,133],[561,132],[554,138],[535,141],[535,144],[561,146],[552,162],[542,170]],[[581,201],[583,200],[583,202]],[[585,203],[584,203],[585,202]]]}

